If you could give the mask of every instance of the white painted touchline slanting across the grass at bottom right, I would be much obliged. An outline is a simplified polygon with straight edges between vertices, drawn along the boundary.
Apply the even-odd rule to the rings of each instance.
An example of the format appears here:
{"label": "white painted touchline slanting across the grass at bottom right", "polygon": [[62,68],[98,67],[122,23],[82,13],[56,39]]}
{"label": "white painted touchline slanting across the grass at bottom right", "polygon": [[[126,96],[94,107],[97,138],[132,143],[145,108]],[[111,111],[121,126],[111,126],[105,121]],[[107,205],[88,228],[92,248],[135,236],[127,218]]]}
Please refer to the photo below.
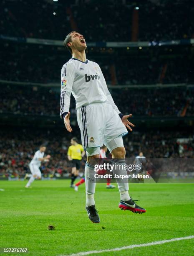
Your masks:
{"label": "white painted touchline slanting across the grass at bottom right", "polygon": [[151,243],[132,244],[131,246],[123,246],[123,247],[119,247],[119,248],[105,249],[105,250],[100,250],[100,251],[83,251],[83,252],[73,253],[73,254],[68,254],[68,255],[61,254],[60,256],[83,256],[83,255],[88,255],[88,254],[92,254],[92,253],[121,251],[121,250],[126,250],[126,249],[133,249],[133,248],[137,248],[137,247],[152,246],[152,245],[157,245],[157,244],[170,243],[170,242],[174,242],[174,241],[187,240],[187,239],[193,239],[193,238],[194,238],[194,236],[185,236],[185,237],[172,238],[169,240],[155,241],[155,242],[151,242]]}

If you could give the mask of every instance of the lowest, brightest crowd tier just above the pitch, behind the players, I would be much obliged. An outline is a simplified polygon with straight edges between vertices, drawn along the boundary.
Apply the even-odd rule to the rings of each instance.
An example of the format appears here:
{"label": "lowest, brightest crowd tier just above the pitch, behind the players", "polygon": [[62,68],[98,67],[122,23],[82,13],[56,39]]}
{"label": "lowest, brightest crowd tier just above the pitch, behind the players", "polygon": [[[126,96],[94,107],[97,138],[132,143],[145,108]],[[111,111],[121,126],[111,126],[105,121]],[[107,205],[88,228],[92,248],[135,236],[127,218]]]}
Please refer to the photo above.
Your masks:
{"label": "lowest, brightest crowd tier just above the pitch, behind the players", "polygon": [[[0,174],[23,175],[30,173],[29,163],[41,144],[47,146],[45,154],[50,154],[49,162],[43,162],[43,174],[63,176],[71,170],[67,159],[71,134],[64,129],[2,129],[0,131]],[[73,127],[73,136],[80,139],[78,127]],[[147,158],[194,158],[194,133],[191,131],[134,131],[123,137],[126,158],[135,157],[140,151]],[[80,141],[81,142],[81,141]],[[111,157],[110,153],[107,154]],[[83,159],[81,170],[84,169]]]}

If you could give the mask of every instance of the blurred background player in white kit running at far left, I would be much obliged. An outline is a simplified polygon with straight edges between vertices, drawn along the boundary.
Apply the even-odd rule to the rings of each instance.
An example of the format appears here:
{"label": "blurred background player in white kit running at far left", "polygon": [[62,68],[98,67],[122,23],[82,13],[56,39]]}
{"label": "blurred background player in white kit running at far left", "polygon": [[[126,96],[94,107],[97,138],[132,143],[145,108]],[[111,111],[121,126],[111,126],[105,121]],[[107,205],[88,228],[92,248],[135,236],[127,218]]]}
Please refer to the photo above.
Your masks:
{"label": "blurred background player in white kit running at far left", "polygon": [[30,184],[35,180],[35,179],[41,179],[41,172],[40,172],[40,165],[41,161],[49,161],[50,155],[47,155],[44,157],[46,147],[41,145],[40,149],[35,152],[32,161],[29,164],[30,167],[30,172],[32,173],[32,176],[30,177],[28,183],[26,184],[26,188],[30,187]]}

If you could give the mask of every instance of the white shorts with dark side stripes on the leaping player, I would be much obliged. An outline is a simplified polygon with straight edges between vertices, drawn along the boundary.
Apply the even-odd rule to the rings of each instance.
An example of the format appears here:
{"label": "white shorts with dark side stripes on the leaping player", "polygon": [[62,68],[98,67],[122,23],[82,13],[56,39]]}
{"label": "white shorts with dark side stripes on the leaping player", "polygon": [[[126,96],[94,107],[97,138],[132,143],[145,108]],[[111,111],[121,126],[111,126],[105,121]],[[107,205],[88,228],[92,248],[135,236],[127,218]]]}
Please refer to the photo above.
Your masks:
{"label": "white shorts with dark side stripes on the leaping player", "polygon": [[121,118],[108,103],[93,103],[77,110],[83,148],[106,146],[108,142],[128,133]]}

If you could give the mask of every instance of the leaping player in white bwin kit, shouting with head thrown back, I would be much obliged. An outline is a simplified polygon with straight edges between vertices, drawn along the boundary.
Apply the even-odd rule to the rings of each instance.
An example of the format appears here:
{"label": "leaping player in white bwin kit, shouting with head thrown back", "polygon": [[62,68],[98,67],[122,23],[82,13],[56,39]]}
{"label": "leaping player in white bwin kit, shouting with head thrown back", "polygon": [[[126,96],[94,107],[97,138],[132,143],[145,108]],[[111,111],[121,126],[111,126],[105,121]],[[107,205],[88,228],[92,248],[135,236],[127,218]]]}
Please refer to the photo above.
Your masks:
{"label": "leaping player in white bwin kit, shouting with head thrown back", "polygon": [[[94,161],[99,158],[100,147],[107,146],[113,157],[113,164],[125,164],[125,148],[122,136],[127,129],[132,131],[130,115],[123,115],[115,105],[101,68],[96,62],[86,59],[86,41],[83,35],[73,31],[69,33],[64,44],[71,52],[72,58],[63,65],[61,70],[60,117],[63,118],[66,129],[72,132],[70,125],[70,97],[76,100],[77,120],[81,130],[83,148],[86,150],[86,211],[93,223],[99,223],[100,217],[96,210],[94,193],[96,182],[94,178]],[[124,167],[120,174],[126,175]],[[132,212],[146,210],[132,200],[128,194],[128,182],[117,179],[121,196],[119,207]]]}

